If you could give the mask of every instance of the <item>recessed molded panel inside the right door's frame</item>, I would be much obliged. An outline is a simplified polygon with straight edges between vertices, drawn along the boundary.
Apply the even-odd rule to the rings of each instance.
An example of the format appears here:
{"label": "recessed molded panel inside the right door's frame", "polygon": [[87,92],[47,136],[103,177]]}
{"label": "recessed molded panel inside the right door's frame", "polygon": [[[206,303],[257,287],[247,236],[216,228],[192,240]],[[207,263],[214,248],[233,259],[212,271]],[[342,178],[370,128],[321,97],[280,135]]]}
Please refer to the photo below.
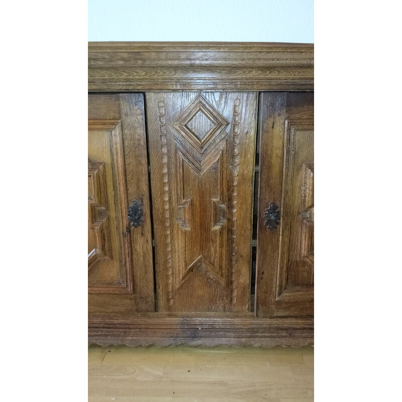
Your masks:
{"label": "recessed molded panel inside the right door's frame", "polygon": [[314,285],[314,124],[285,121],[277,298]]}

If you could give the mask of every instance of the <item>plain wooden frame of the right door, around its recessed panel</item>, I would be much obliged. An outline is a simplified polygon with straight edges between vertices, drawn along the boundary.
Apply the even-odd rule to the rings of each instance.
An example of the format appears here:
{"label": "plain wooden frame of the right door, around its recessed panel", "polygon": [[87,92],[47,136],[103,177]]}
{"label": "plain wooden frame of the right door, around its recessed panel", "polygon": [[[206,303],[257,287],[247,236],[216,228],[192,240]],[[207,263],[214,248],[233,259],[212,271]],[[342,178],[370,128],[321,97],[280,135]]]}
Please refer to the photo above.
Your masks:
{"label": "plain wooden frame of the right door, around its recessed panel", "polygon": [[[309,101],[314,99],[310,92]],[[313,100],[314,102],[314,100]],[[291,157],[289,144],[292,133],[297,128],[314,130],[314,114],[306,119],[303,111],[298,117],[288,116],[286,92],[260,93],[260,177],[258,191],[257,261],[256,261],[256,300],[257,317],[312,316],[314,314],[314,288],[286,289],[287,252],[283,218],[287,214],[284,188],[292,172],[288,171]],[[311,105],[310,105],[311,106]],[[301,106],[300,106],[301,109]],[[310,108],[311,109],[311,108]],[[274,203],[280,207],[280,224],[268,230],[264,223],[264,211]],[[285,209],[284,209],[285,208]],[[286,223],[286,222],[285,222]],[[286,223],[286,225],[288,225]],[[285,247],[284,247],[285,246]]]}

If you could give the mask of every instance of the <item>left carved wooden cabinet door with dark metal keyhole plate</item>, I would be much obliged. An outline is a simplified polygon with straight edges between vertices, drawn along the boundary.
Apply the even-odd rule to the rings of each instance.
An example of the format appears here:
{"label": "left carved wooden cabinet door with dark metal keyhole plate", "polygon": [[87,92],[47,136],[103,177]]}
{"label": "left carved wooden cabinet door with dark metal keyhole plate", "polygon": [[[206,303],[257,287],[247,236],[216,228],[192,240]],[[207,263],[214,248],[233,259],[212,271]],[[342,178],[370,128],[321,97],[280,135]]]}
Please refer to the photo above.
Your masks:
{"label": "left carved wooden cabinet door with dark metal keyhole plate", "polygon": [[142,94],[88,96],[88,292],[89,313],[154,311]]}

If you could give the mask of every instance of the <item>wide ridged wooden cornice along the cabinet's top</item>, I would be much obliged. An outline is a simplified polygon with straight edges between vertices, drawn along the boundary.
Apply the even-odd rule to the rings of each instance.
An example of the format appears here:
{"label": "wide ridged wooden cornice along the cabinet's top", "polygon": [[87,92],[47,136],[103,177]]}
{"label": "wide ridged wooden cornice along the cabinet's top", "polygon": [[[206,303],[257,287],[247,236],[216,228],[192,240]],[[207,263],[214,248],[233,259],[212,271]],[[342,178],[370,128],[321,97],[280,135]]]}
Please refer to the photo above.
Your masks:
{"label": "wide ridged wooden cornice along the cabinet's top", "polygon": [[314,44],[88,42],[88,90],[314,90]]}

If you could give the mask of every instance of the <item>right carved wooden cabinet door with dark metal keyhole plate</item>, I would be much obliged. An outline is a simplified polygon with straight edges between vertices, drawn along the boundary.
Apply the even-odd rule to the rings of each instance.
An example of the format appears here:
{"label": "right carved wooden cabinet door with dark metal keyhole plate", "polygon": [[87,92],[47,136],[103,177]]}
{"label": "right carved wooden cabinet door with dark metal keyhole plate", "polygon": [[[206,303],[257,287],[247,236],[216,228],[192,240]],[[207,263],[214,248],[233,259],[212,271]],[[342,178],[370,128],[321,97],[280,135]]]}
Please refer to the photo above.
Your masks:
{"label": "right carved wooden cabinet door with dark metal keyhole plate", "polygon": [[314,93],[260,95],[256,313],[314,313]]}

